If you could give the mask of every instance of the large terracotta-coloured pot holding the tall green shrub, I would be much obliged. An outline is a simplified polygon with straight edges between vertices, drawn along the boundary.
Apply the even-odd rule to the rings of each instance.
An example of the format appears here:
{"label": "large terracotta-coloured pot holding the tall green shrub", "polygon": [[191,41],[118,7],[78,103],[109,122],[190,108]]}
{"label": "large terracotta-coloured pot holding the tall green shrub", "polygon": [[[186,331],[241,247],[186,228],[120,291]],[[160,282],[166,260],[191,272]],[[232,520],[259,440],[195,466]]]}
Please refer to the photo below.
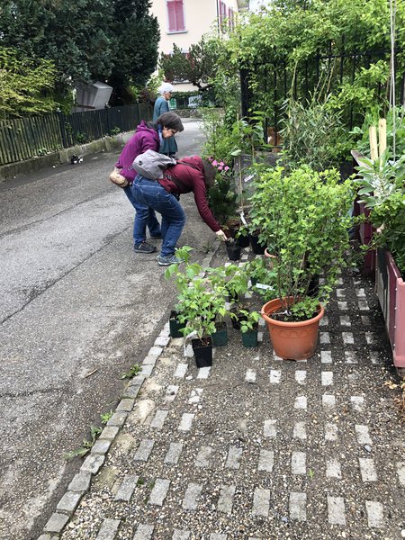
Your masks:
{"label": "large terracotta-coloured pot holding the tall green shrub", "polygon": [[300,322],[284,322],[271,318],[271,314],[282,307],[277,298],[266,302],[261,315],[267,323],[270,339],[275,354],[284,360],[304,360],[315,352],[318,343],[318,328],[325,310],[320,305],[320,312],[310,320]]}

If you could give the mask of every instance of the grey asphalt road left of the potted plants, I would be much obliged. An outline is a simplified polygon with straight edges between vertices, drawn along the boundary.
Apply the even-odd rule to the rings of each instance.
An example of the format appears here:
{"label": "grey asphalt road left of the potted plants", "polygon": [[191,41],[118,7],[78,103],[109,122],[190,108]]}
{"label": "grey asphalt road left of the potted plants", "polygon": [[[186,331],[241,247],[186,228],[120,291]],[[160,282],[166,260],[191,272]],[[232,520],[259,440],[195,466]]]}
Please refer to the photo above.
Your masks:
{"label": "grey asphalt road left of the potted plants", "polygon": [[[184,121],[180,156],[202,131]],[[132,251],[133,211],[107,180],[119,151],[0,184],[0,537],[33,539],[82,461],[121,374],[142,358],[173,306],[156,255]],[[182,196],[180,244],[202,259],[215,234]]]}

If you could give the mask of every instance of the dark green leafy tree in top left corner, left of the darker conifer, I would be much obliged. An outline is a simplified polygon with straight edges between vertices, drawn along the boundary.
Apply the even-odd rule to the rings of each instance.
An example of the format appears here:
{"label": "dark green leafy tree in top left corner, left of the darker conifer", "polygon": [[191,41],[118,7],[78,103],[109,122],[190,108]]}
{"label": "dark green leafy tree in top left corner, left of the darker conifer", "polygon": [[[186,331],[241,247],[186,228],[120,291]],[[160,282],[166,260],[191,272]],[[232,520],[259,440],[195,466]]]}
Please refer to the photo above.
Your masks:
{"label": "dark green leafy tree in top left corner, left of the darker conifer", "polygon": [[109,0],[6,0],[1,43],[34,58],[52,60],[59,91],[109,72]]}

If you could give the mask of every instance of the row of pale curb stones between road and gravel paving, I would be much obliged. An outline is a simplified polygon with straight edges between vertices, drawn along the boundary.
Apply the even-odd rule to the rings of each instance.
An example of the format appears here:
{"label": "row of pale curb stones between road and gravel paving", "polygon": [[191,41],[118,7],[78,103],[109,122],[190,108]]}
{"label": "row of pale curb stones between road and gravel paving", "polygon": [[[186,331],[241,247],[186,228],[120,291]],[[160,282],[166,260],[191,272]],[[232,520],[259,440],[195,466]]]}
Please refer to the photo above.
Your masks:
{"label": "row of pale curb stones between road and gravel paving", "polygon": [[[211,260],[219,246],[220,244],[218,244],[211,254],[202,259],[202,267],[211,265]],[[130,411],[133,410],[142,384],[152,374],[158,357],[162,354],[164,347],[168,345],[169,341],[169,323],[166,322],[153,346],[148,350],[147,356],[145,356],[143,362],[140,364],[142,372],[133,377],[130,383],[128,383],[111,419],[108,420],[100,437],[95,441],[91,453],[85,458],[85,462],[80,467],[80,473],[77,473],[67,486],[66,493],[58,501],[56,511],[50,516],[38,540],[58,540],[60,538],[63,529],[67,526],[69,519],[72,518],[81,498],[89,491],[92,477],[103,466],[110,446],[112,446],[115,438],[119,435],[120,429],[125,424]]]}

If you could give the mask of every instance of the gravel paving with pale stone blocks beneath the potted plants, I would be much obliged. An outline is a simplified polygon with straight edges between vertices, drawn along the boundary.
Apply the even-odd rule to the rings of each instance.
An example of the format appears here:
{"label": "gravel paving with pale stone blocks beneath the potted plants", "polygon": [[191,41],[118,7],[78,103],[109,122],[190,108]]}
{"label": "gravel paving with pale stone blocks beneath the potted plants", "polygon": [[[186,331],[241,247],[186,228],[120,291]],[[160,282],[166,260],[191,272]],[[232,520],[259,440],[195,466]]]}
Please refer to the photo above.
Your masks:
{"label": "gravel paving with pale stone blocks beneath the potted plants", "polygon": [[65,525],[63,540],[404,537],[403,429],[372,284],[342,277],[307,361],[276,357],[261,330],[246,349],[229,329],[198,370],[166,325],[41,540]]}

